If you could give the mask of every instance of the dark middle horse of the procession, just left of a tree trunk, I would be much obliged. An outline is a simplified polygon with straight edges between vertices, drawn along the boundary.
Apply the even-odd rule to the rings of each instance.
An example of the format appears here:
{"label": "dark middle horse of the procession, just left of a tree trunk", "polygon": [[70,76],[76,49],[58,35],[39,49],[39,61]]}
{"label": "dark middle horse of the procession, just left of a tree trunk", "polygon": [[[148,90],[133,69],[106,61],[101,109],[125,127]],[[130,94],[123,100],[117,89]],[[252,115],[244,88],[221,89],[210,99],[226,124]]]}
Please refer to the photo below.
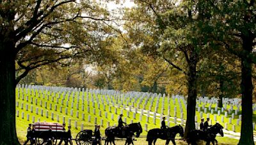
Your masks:
{"label": "dark middle horse of the procession, just left of a tree trunk", "polygon": [[178,133],[180,134],[181,137],[183,137],[184,130],[180,125],[177,125],[171,128],[166,128],[166,129],[160,129],[160,128],[151,129],[148,131],[148,134],[147,134],[148,145],[151,145],[152,142],[156,144],[157,139],[166,140],[166,143],[165,143],[166,145],[169,144],[170,141],[172,141],[173,144],[176,144],[175,136]]}

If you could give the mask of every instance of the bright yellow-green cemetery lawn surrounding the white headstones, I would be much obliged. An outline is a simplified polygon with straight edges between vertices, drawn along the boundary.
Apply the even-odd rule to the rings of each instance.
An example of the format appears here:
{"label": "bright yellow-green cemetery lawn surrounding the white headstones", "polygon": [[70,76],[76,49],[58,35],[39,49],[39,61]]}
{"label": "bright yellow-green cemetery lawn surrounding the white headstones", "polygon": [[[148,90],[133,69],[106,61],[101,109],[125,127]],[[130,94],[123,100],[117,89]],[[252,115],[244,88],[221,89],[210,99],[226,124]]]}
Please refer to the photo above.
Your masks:
{"label": "bright yellow-green cemetery lawn surrounding the white headstones", "polygon": [[[20,90],[22,90],[22,88],[20,88]],[[37,91],[34,92],[34,90],[31,91],[31,93],[28,93],[29,90],[26,91],[26,94],[24,95],[23,93],[25,93],[25,89],[22,90],[23,93],[20,93],[20,90],[18,92],[18,89],[16,89],[16,101],[19,102],[19,106],[17,106],[16,110],[19,111],[19,117],[17,116],[16,119],[16,124],[17,124],[17,135],[20,139],[20,141],[24,141],[26,139],[26,128],[28,127],[28,124],[32,122],[32,116],[35,118],[35,122],[40,120],[40,121],[46,121],[46,122],[58,122],[59,123],[63,123],[63,117],[65,117],[65,122],[68,123],[68,120],[70,120],[70,124],[72,126],[72,135],[73,138],[76,138],[76,135],[78,134],[78,132],[80,132],[81,130],[81,125],[83,124],[83,129],[92,129],[94,130],[94,125],[95,125],[95,118],[97,118],[96,123],[100,124],[101,121],[103,121],[103,126],[100,128],[100,132],[103,134],[104,133],[104,129],[107,127],[107,124],[109,122],[110,126],[113,125],[117,125],[118,122],[118,114],[121,113],[121,110],[123,110],[123,120],[125,120],[126,118],[126,122],[127,123],[131,123],[131,120],[135,123],[135,122],[140,122],[141,126],[143,128],[143,133],[141,135],[145,136],[147,135],[147,132],[144,130],[145,128],[145,124],[147,124],[147,128],[148,130],[152,129],[152,128],[159,128],[160,127],[160,120],[157,119],[156,120],[156,124],[153,123],[153,118],[148,118],[148,122],[147,117],[146,116],[142,116],[141,120],[140,120],[140,113],[136,114],[136,118],[133,118],[133,113],[130,112],[129,116],[127,116],[127,110],[124,109],[124,107],[122,105],[120,105],[120,107],[118,106],[118,102],[120,102],[120,99],[118,99],[118,97],[109,97],[104,96],[104,95],[100,95],[98,94],[97,96],[95,94],[92,93],[88,93],[88,98],[89,101],[87,101],[86,97],[87,97],[87,93],[84,92],[84,102],[82,100],[82,92],[70,92],[70,95],[68,93],[64,94],[64,93],[60,93],[60,92],[49,92],[49,91]],[[18,95],[19,93],[19,95]],[[36,94],[35,96],[33,96],[32,94]],[[44,94],[44,95],[43,95]],[[91,96],[92,95],[92,96]],[[19,97],[18,97],[19,96]],[[60,96],[60,97],[59,97]],[[69,96],[69,97],[68,97]],[[80,96],[80,97],[79,97]],[[33,100],[31,100],[31,98],[33,98]],[[79,98],[79,99],[77,99]],[[164,99],[164,104],[162,103]],[[36,102],[37,100],[37,102]],[[57,101],[58,100],[58,101]],[[98,101],[97,101],[98,100]],[[136,99],[133,98],[129,99],[129,97],[127,97],[127,99],[124,99],[124,104],[126,105],[126,107],[128,106],[132,106],[132,102],[135,101]],[[147,113],[147,110],[150,109],[150,102],[152,100],[152,97],[150,97],[150,99],[148,100],[147,104],[145,104],[146,99],[141,100],[140,102],[140,98],[137,100],[137,102],[134,103],[134,107],[140,107],[143,108],[144,104],[145,104],[145,109],[144,109],[144,113]],[[180,118],[180,109],[182,107],[183,112],[184,112],[184,119],[186,120],[186,107],[184,106],[184,102],[183,100],[180,100],[180,104],[181,106],[179,106],[179,100],[175,99],[175,104],[173,102],[172,99],[170,99],[170,116],[173,117],[174,114],[174,107],[176,106],[177,108],[177,118]],[[40,105],[42,102],[42,106]],[[45,106],[45,102],[46,102],[46,106]],[[57,103],[58,102],[58,103]],[[63,102],[63,103],[62,103]],[[97,104],[97,102],[99,102]],[[109,102],[109,104],[108,104]],[[23,108],[21,107],[23,104]],[[78,106],[77,106],[78,104]],[[94,107],[93,107],[94,104]],[[114,106],[113,106],[114,104]],[[50,105],[51,105],[51,109],[50,109]],[[28,110],[26,110],[26,106],[28,106]],[[82,109],[82,106],[84,107],[84,111]],[[105,107],[105,110],[103,109]],[[111,107],[109,107],[111,106]],[[152,107],[151,107],[151,111],[154,112],[155,111],[155,107],[157,106],[157,97],[154,98],[153,103],[152,103]],[[164,106],[164,112],[163,114],[166,115],[168,114],[168,98],[167,97],[160,97],[159,101],[158,101],[158,109],[157,109],[157,113],[161,113],[161,108],[162,106]],[[199,106],[202,106],[202,104],[200,104]],[[205,107],[208,107],[209,104],[205,104]],[[31,111],[31,107],[32,111]],[[56,109],[55,109],[56,107]],[[61,112],[60,112],[60,108]],[[77,109],[78,107],[78,109]],[[214,108],[215,106],[212,105],[212,108]],[[230,106],[227,106],[230,107]],[[38,114],[36,114],[36,108],[38,109]],[[234,107],[235,108],[235,107]],[[65,110],[67,109],[67,114],[65,113]],[[88,113],[88,109],[90,109],[90,113]],[[93,109],[95,109],[95,114],[93,113]],[[115,109],[116,109],[116,113],[115,113]],[[140,109],[138,109],[138,111],[140,111]],[[43,115],[41,115],[41,110],[43,110]],[[73,114],[71,114],[71,111]],[[101,116],[99,116],[99,112],[101,111]],[[46,117],[46,113],[48,112],[48,118]],[[24,119],[21,118],[22,113],[24,113]],[[51,119],[51,114],[54,114],[54,118],[53,120]],[[76,116],[76,114],[78,115],[78,118]],[[105,117],[105,113],[108,113],[107,118]],[[209,112],[207,112],[209,113]],[[203,114],[203,116],[206,118],[207,116],[206,114]],[[241,110],[239,111],[239,114],[241,113]],[[27,115],[29,114],[29,121],[27,120]],[[83,120],[83,116],[82,114],[84,114],[84,120]],[[217,114],[214,111],[214,114]],[[211,114],[210,112],[210,118],[212,119],[212,123],[215,123],[215,121],[213,120],[213,116],[214,114]],[[57,120],[57,115],[59,116],[59,120]],[[89,121],[88,118],[91,118],[91,120]],[[111,116],[113,116],[113,120],[111,119]],[[198,113],[196,111],[196,116],[198,116],[198,122],[200,121],[200,113]],[[221,113],[220,116],[217,116],[217,120],[221,123],[221,116],[224,116],[223,113]],[[255,122],[255,117],[256,113],[253,113],[253,122]],[[227,118],[225,118],[224,121],[228,121],[228,118],[230,118],[231,116],[229,115]],[[172,119],[170,119],[171,121],[173,121]],[[235,120],[232,120],[232,124],[236,124],[236,120],[237,120],[237,116],[235,117]],[[75,123],[77,124],[77,128],[75,128]],[[167,123],[166,123],[167,124]],[[224,127],[224,123],[221,123],[221,125],[223,125]],[[241,123],[240,123],[241,125]],[[236,132],[240,132],[240,125],[236,125]],[[170,127],[175,126],[174,123],[170,122]],[[228,130],[232,129],[232,125],[228,125]],[[218,137],[217,139],[219,142],[223,142],[223,144],[237,144],[237,140],[234,139],[229,139],[227,137]],[[118,141],[120,144],[124,144],[124,142],[122,141]],[[118,143],[118,144],[119,144]],[[140,138],[138,139],[138,141],[136,141],[136,144],[147,144],[147,142],[145,142],[145,138]],[[159,140],[159,144],[162,144],[161,140]],[[179,142],[179,144],[182,144],[182,142]]]}

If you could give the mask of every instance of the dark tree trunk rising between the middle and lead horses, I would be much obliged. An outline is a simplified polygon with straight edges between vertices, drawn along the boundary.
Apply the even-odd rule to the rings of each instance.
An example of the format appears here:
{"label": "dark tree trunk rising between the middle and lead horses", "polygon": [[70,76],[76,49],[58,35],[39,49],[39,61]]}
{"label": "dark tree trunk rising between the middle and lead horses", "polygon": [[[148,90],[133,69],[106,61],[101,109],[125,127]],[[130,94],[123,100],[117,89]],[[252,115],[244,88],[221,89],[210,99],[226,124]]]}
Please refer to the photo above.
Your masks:
{"label": "dark tree trunk rising between the middle and lead horses", "polygon": [[[194,58],[195,59],[195,58]],[[196,113],[196,60],[191,59],[188,72],[188,106],[187,121],[184,138],[188,137],[188,132],[195,129]]]}

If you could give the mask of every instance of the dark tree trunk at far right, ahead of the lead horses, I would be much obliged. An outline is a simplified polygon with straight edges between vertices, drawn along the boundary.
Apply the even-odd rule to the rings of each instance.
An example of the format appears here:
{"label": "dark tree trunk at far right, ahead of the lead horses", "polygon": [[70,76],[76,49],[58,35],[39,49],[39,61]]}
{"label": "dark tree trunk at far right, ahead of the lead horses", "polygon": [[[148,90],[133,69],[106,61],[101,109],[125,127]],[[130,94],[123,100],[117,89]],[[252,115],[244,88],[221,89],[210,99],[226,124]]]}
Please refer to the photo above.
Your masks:
{"label": "dark tree trunk at far right, ahead of the lead horses", "polygon": [[252,126],[252,47],[253,38],[243,38],[243,56],[241,58],[242,66],[242,123],[241,137],[239,144],[254,144],[253,142],[253,126]]}

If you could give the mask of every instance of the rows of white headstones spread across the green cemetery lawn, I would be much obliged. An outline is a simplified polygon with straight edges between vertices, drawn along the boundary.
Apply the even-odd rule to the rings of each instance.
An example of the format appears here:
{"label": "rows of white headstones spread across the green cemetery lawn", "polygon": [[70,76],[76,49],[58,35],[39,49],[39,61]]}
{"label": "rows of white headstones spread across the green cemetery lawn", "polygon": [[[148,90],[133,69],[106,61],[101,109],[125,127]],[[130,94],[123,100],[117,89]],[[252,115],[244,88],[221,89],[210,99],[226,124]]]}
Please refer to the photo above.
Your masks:
{"label": "rows of white headstones spread across the green cemetery lawn", "polygon": [[[147,122],[148,122],[148,118],[150,117],[150,113],[152,111],[152,105],[154,103],[154,101],[156,101],[156,105],[155,105],[155,111],[154,111],[154,115],[153,115],[153,123],[156,124],[156,119],[157,119],[157,110],[158,110],[158,107],[159,107],[159,100],[160,98],[162,97],[162,94],[156,94],[156,93],[143,93],[143,92],[127,92],[127,93],[122,93],[122,92],[119,92],[119,91],[114,91],[114,90],[88,90],[86,89],[86,99],[84,97],[84,89],[82,88],[61,88],[61,87],[49,87],[49,86],[28,86],[28,85],[18,85],[18,90],[19,90],[19,93],[18,93],[18,97],[20,98],[20,95],[21,95],[21,98],[22,100],[24,100],[24,97],[26,97],[26,100],[28,101],[28,96],[31,95],[31,102],[33,102],[33,98],[35,98],[35,104],[37,104],[38,100],[37,99],[40,99],[40,98],[43,98],[45,99],[45,96],[47,97],[47,100],[50,99],[51,97],[51,101],[54,102],[55,98],[56,98],[56,103],[59,103],[60,102],[60,99],[61,99],[61,93],[63,94],[63,98],[61,99],[61,104],[64,105],[64,100],[67,100],[66,102],[66,106],[68,107],[68,102],[70,102],[70,98],[72,99],[72,108],[74,107],[74,102],[75,102],[75,98],[77,98],[77,104],[76,104],[76,110],[79,110],[79,101],[81,100],[82,101],[82,104],[84,104],[84,100],[86,101],[92,101],[92,107],[94,107],[93,109],[93,114],[95,114],[95,102],[97,102],[98,104],[98,109],[100,109],[100,103],[103,104],[103,109],[104,111],[106,111],[106,105],[104,104],[104,101],[107,102],[108,104],[108,107],[109,107],[109,112],[111,113],[111,107],[114,107],[115,108],[115,114],[117,114],[117,109],[116,109],[116,106],[118,108],[120,108],[120,106],[122,106],[125,110],[127,110],[127,117],[130,116],[130,113],[132,112],[133,113],[133,119],[136,120],[136,113],[138,113],[138,109],[140,110],[140,120],[142,118],[143,115],[146,115],[147,117]],[[25,88],[25,89],[20,89],[20,88]],[[22,92],[24,90],[24,92]],[[48,91],[51,95],[48,94],[45,94],[45,90]],[[44,92],[44,93],[43,93]],[[72,93],[72,96],[70,95]],[[74,95],[75,93],[76,95]],[[77,92],[79,92],[79,94],[77,95]],[[81,93],[83,92],[83,93]],[[36,97],[36,94],[38,94],[38,97]],[[52,95],[53,93],[53,95]],[[92,95],[88,95],[88,93],[91,93],[97,97],[92,97]],[[67,94],[67,95],[66,95]],[[82,94],[82,95],[81,95]],[[100,95],[99,95],[100,94]],[[56,97],[57,96],[57,97]],[[67,96],[67,97],[66,97]],[[99,97],[100,96],[100,97]],[[163,94],[163,98],[165,97],[165,94]],[[167,102],[170,102],[170,100],[172,100],[173,102],[173,105],[175,106],[174,107],[174,118],[173,118],[173,122],[176,124],[177,123],[177,106],[175,105],[175,99],[178,100],[178,104],[179,104],[179,108],[180,108],[180,123],[183,125],[184,124],[184,119],[183,119],[183,109],[182,109],[182,103],[183,105],[186,107],[186,101],[184,100],[184,97],[182,96],[179,96],[179,95],[173,95],[172,97],[169,97],[168,95],[168,101]],[[150,102],[150,107],[148,110],[145,110],[145,107],[146,105],[148,104],[148,100],[151,99],[151,102]],[[156,100],[157,99],[157,100]],[[116,101],[115,101],[116,100]],[[143,105],[143,108],[140,109],[140,104],[144,101],[144,105]],[[182,101],[180,101],[182,100]],[[100,102],[101,101],[101,102]],[[126,104],[124,104],[124,102],[126,101]],[[131,106],[127,105],[129,102],[131,102]],[[218,110],[218,107],[217,107],[217,103],[218,103],[218,99],[216,98],[211,98],[209,99],[208,97],[199,97],[198,100],[196,101],[197,104],[196,104],[196,108],[197,108],[197,111],[200,112],[200,118],[202,118],[203,116],[203,112],[201,111],[201,108],[202,110],[204,110],[204,113],[206,114],[207,113],[207,108],[208,110],[210,111],[211,110],[211,114],[215,112],[218,112],[218,116],[220,116],[220,112],[223,113],[225,110],[227,110],[227,104],[230,104],[230,108],[228,109],[228,111],[225,111],[225,116],[221,116],[221,122],[224,123],[224,117],[227,118],[227,115],[230,114],[232,111],[233,111],[233,106],[236,106],[237,109],[235,110],[235,113],[232,113],[232,117],[231,118],[228,118],[228,123],[229,124],[232,124],[232,120],[234,120],[235,118],[235,115],[238,114],[239,112],[239,107],[241,106],[240,102],[241,100],[239,99],[227,99],[227,98],[224,98],[223,99],[223,104],[224,104],[224,107],[221,108],[221,110]],[[109,104],[112,103],[112,106],[110,106]],[[138,104],[137,107],[134,106],[134,104]],[[164,111],[164,99],[162,99],[162,108],[161,108],[161,117],[160,119],[162,118],[163,116],[163,111]],[[199,107],[198,104],[202,104],[202,107]],[[205,107],[205,104],[206,103],[210,103],[209,107]],[[40,100],[40,106],[42,107],[42,100]],[[168,103],[168,116],[167,116],[167,121],[168,121],[168,124],[170,124],[170,104],[171,103]],[[215,104],[215,110],[214,109],[211,109],[212,105]],[[17,102],[17,107],[19,106],[19,102]],[[47,109],[47,102],[44,102],[44,106],[45,106],[45,109]],[[21,109],[23,109],[23,103],[21,103],[20,105]],[[52,109],[52,104],[50,104],[50,110]],[[28,104],[26,104],[26,110],[28,111]],[[54,107],[54,110],[57,111],[57,106],[55,105]],[[255,104],[253,104],[253,111],[256,110],[256,107],[255,107]],[[33,111],[33,105],[31,105],[31,111]],[[84,105],[82,105],[82,111],[84,111]],[[90,104],[88,104],[87,106],[87,111],[88,113],[90,113]],[[123,109],[120,110],[120,113],[123,112]],[[145,113],[147,112],[147,113]],[[62,113],[62,106],[60,107],[60,113]],[[24,113],[22,113],[23,117],[24,118]],[[38,107],[36,107],[36,114],[38,114]],[[48,117],[48,114],[49,114],[49,111],[46,111],[46,114],[45,116]],[[68,111],[67,111],[67,108],[65,108],[65,114],[68,114]],[[71,116],[73,116],[73,109],[71,109],[70,111],[70,114]],[[44,115],[44,109],[41,109],[41,116]],[[19,116],[19,110],[17,111],[17,116]],[[77,118],[79,118],[79,112],[76,111],[76,116]],[[101,115],[101,110],[99,111],[99,116],[102,116]],[[114,120],[113,118],[113,114],[111,114],[111,120]],[[105,112],[105,117],[108,118],[108,112]],[[209,113],[207,114],[207,118],[209,117]],[[27,115],[27,118],[29,118],[29,114]],[[32,120],[33,120],[34,117],[32,117]],[[51,118],[52,120],[54,120],[54,114],[51,113]],[[59,115],[57,115],[57,121],[59,121]],[[65,119],[65,116],[63,116],[63,118]],[[84,113],[82,114],[82,118],[84,120]],[[126,118],[124,118],[125,120]],[[69,119],[70,120],[70,119]],[[91,116],[89,115],[88,116],[88,121],[91,120]],[[195,116],[195,120],[197,121],[197,116]],[[35,121],[35,119],[33,120]],[[65,120],[63,120],[65,121]],[[216,121],[216,114],[214,114],[214,121]],[[239,122],[241,121],[241,114],[239,114],[239,119],[237,120],[237,125],[239,125]],[[97,118],[95,117],[95,123],[97,123]],[[76,127],[76,121],[75,121],[75,127]],[[103,120],[100,120],[100,124],[103,125]],[[108,126],[109,126],[109,122],[107,123]],[[145,130],[146,129],[146,126],[145,125]],[[255,126],[255,123],[253,123],[253,128]],[[198,128],[198,123],[196,123],[196,128]],[[225,128],[227,128],[227,122],[225,123]],[[233,131],[235,130],[236,126],[233,125],[232,127]]]}

